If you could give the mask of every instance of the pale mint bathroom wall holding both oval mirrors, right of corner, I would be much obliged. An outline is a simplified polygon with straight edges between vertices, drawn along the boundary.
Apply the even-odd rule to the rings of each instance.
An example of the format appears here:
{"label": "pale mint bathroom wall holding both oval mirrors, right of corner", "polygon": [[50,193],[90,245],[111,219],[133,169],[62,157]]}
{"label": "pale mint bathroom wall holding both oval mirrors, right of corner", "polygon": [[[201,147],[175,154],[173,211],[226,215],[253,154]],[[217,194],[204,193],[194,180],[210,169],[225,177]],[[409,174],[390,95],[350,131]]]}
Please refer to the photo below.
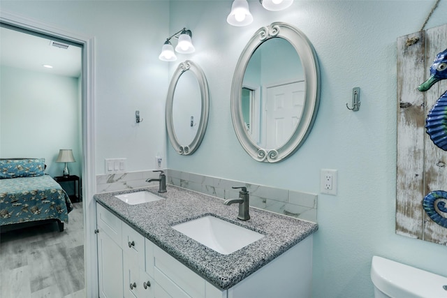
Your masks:
{"label": "pale mint bathroom wall holding both oval mirrors, right of corner", "polygon": [[[226,23],[231,1],[176,1],[170,27],[193,31],[210,85],[210,118],[200,148],[168,167],[214,177],[318,193],[313,297],[373,297],[373,255],[447,276],[447,247],[395,234],[396,40],[420,30],[434,1],[296,1],[283,12],[250,1],[254,22]],[[446,23],[441,1],[427,28]],[[237,59],[261,26],[288,22],[311,40],[321,69],[321,104],[312,133],[286,161],[257,163],[237,142],[230,89]],[[416,61],[415,61],[416,63]],[[176,64],[170,65],[170,74]],[[346,109],[360,87],[359,112]],[[415,86],[416,88],[416,86]],[[338,195],[319,193],[321,168],[337,169]],[[280,295],[278,296],[280,297]]]}

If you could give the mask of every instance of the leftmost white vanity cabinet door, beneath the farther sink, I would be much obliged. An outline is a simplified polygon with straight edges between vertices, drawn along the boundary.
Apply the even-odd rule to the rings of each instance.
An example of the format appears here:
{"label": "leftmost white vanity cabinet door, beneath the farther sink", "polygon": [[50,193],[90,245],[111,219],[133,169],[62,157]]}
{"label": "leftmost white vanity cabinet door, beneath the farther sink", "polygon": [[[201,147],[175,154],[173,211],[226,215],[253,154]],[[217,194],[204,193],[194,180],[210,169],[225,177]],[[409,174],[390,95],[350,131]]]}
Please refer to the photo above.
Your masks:
{"label": "leftmost white vanity cabinet door, beneath the farther sink", "polygon": [[122,249],[104,230],[98,233],[99,297],[123,297]]}

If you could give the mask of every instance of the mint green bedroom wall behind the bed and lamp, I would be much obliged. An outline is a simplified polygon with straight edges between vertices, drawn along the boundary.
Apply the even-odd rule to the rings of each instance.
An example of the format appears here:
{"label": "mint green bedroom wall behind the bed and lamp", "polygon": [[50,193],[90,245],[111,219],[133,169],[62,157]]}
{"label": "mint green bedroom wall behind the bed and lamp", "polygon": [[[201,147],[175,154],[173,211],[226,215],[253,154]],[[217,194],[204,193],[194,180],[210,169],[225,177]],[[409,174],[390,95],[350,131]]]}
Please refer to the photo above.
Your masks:
{"label": "mint green bedroom wall behind the bed and lamp", "polygon": [[70,174],[80,176],[78,78],[19,68],[0,68],[0,157],[45,158],[45,173],[61,176],[59,149],[73,149]]}

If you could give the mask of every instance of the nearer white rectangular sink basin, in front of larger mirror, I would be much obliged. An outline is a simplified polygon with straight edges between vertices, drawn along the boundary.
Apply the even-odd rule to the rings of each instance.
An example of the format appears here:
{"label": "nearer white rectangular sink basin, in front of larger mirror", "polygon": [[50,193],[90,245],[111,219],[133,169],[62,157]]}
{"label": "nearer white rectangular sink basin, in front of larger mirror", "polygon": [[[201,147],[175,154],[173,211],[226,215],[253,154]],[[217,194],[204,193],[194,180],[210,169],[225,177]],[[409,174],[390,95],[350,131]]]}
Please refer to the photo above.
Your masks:
{"label": "nearer white rectangular sink basin, in front of larger mirror", "polygon": [[172,228],[222,255],[234,253],[264,237],[263,234],[214,216],[204,216],[186,221],[186,223],[173,225]]}

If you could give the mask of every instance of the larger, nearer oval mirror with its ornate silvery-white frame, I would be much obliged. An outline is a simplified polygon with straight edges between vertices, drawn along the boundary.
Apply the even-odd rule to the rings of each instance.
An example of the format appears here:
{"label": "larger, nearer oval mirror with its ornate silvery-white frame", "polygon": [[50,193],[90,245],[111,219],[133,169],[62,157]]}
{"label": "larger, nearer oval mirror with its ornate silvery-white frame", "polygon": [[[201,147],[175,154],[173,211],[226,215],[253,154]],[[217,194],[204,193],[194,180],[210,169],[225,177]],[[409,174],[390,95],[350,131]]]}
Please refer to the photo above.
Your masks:
{"label": "larger, nearer oval mirror with its ornate silvery-white frame", "polygon": [[231,116],[240,144],[256,161],[276,163],[309,134],[319,102],[314,48],[281,22],[256,31],[233,77]]}

